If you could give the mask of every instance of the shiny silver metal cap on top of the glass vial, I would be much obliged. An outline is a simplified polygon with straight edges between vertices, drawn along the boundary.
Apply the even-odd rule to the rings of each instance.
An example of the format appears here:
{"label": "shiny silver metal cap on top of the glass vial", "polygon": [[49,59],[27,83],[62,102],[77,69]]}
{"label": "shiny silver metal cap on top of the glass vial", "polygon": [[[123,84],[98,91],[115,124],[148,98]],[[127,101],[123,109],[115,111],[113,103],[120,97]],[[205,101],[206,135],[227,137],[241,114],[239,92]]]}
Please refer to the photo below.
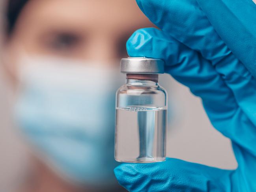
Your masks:
{"label": "shiny silver metal cap on top of the glass vial", "polygon": [[160,74],[164,73],[164,61],[146,57],[121,59],[121,73]]}

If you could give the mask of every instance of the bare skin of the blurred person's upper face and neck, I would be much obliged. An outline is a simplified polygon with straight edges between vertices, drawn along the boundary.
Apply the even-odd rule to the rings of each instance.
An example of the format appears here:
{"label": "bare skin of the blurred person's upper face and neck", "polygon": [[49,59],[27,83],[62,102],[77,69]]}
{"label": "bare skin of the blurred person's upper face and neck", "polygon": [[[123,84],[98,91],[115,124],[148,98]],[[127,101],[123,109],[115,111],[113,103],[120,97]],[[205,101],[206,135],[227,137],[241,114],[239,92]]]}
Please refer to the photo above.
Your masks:
{"label": "bare skin of the blurred person's upper face and neck", "polygon": [[[132,0],[30,0],[13,33],[5,38],[6,74],[17,85],[17,62],[24,53],[114,65],[127,57],[129,36],[138,28],[152,26]],[[65,182],[36,158],[33,162],[33,176],[20,191],[93,191]],[[111,191],[122,189],[116,186]]]}

